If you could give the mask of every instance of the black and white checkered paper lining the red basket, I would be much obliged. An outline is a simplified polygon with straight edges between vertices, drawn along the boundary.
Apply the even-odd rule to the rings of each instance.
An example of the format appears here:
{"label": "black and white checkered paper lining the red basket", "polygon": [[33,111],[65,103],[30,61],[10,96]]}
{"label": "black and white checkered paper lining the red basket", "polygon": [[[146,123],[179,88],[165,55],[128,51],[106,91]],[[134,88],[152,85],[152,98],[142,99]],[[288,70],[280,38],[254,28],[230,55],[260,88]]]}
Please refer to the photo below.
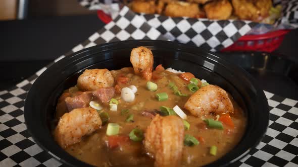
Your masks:
{"label": "black and white checkered paper lining the red basket", "polygon": [[[115,0],[79,0],[80,4],[89,10],[103,10],[115,18],[120,10],[119,2]],[[251,21],[242,20],[208,20],[193,18],[171,18],[161,15],[144,15],[142,18],[152,27],[156,28],[165,38],[202,47],[211,51],[220,51],[236,42],[241,36],[254,29],[260,33],[270,29],[293,29],[298,27],[298,1],[297,0],[275,0],[274,5],[281,4],[282,16],[270,26],[269,30],[260,29],[260,25]]]}

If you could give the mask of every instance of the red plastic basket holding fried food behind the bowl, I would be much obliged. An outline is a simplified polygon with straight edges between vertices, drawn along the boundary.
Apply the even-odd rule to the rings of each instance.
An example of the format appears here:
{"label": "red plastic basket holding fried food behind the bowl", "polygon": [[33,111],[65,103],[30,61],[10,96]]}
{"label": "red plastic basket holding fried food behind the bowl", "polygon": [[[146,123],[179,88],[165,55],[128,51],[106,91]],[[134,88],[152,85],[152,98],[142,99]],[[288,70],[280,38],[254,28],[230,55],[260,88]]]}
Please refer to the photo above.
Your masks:
{"label": "red plastic basket holding fried food behind the bowl", "polygon": [[[97,16],[106,24],[112,21],[111,17],[101,10],[97,11]],[[224,48],[221,51],[272,52],[279,47],[285,34],[289,31],[290,30],[277,30],[261,35],[244,35],[231,46]]]}

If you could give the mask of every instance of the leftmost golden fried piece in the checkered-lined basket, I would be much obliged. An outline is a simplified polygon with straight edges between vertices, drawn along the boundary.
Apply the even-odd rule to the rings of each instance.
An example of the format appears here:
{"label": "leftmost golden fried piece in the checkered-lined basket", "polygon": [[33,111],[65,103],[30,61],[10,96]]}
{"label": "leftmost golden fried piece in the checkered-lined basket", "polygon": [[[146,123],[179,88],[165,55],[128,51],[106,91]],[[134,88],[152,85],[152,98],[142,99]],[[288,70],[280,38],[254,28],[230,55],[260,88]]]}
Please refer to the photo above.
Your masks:
{"label": "leftmost golden fried piece in the checkered-lined basket", "polygon": [[136,13],[154,14],[156,10],[154,1],[132,1],[130,5]]}

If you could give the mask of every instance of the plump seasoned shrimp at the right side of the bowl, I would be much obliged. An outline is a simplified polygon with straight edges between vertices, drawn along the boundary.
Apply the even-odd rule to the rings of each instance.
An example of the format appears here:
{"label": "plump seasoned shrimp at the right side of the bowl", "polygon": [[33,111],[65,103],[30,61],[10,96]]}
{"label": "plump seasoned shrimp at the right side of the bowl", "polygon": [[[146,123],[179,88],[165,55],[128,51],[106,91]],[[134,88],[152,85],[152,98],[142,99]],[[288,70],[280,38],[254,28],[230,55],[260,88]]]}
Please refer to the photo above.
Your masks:
{"label": "plump seasoned shrimp at the right side of the bowl", "polygon": [[234,107],[225,90],[208,85],[196,91],[184,105],[192,115],[201,117],[211,113],[233,113]]}

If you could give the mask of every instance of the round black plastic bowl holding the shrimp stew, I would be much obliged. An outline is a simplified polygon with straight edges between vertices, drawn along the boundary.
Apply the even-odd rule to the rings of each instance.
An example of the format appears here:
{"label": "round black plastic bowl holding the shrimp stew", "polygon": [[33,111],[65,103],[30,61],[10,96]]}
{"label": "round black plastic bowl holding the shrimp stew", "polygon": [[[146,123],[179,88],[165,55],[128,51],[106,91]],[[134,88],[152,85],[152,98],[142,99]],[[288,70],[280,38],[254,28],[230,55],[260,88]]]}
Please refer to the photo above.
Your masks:
{"label": "round black plastic bowl holding the shrimp stew", "polygon": [[68,154],[55,142],[51,121],[62,92],[74,85],[86,68],[120,69],[131,66],[132,48],[152,49],[154,63],[189,71],[210,84],[228,91],[244,110],[246,131],[229,153],[207,166],[225,166],[249,153],[264,136],[269,123],[269,110],[263,90],[242,68],[197,47],[169,41],[135,40],[90,47],[63,58],[45,70],[34,82],[25,104],[25,120],[36,143],[58,160],[71,166],[88,166]]}

